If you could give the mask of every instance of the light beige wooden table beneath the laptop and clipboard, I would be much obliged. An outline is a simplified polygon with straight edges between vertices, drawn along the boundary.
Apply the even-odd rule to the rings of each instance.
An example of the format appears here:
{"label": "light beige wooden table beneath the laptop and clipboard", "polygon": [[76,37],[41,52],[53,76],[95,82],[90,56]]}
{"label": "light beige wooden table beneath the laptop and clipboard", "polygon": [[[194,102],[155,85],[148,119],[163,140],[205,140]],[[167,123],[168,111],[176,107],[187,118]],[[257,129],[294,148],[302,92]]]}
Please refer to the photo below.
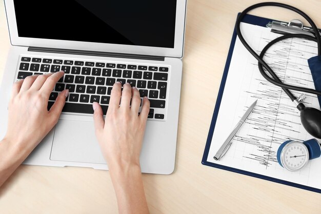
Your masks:
{"label": "light beige wooden table beneath the laptop and clipboard", "polygon": [[[236,14],[258,2],[188,1],[176,167],[169,176],[143,175],[151,213],[321,213],[319,193],[201,164]],[[321,27],[321,1],[280,2],[302,9]],[[252,14],[300,18],[278,8]],[[10,41],[3,1],[0,44],[1,80],[12,72],[4,71]],[[0,213],[117,213],[117,205],[108,171],[22,165],[0,188]]]}

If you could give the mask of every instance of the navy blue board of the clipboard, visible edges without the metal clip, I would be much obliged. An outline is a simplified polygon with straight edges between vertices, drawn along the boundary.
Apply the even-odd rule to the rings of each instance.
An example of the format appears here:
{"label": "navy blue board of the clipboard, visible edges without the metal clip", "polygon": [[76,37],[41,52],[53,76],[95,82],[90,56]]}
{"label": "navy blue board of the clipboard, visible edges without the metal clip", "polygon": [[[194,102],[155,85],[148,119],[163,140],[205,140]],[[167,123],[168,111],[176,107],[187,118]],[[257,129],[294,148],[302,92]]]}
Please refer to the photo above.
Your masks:
{"label": "navy blue board of the clipboard, visible edges without the metal clip", "polygon": [[[252,24],[252,25],[266,27],[266,25],[272,21],[273,20],[270,20],[268,18],[263,18],[263,17],[247,14],[244,17],[242,22]],[[213,137],[213,132],[214,132],[214,128],[215,128],[215,123],[216,123],[216,119],[217,119],[217,115],[218,115],[218,110],[219,110],[220,102],[221,102],[222,96],[223,96],[223,91],[224,91],[225,82],[227,79],[227,74],[228,74],[228,71],[230,68],[230,63],[231,63],[231,59],[232,59],[232,53],[234,50],[235,41],[236,41],[236,30],[234,28],[233,37],[232,37],[229,53],[228,53],[225,68],[224,68],[222,82],[220,83],[220,87],[219,87],[219,91],[218,91],[218,95],[217,95],[217,100],[216,100],[216,104],[215,104],[215,108],[214,108],[214,113],[213,113],[213,117],[212,117],[212,122],[211,122],[210,130],[208,133],[207,141],[206,141],[202,164],[207,165],[207,166],[211,166],[211,167],[215,167],[215,168],[219,168],[219,169],[225,169],[225,170],[232,171],[232,172],[237,172],[240,174],[245,174],[247,176],[251,176],[251,177],[255,177],[255,178],[265,179],[268,181],[272,181],[272,182],[276,182],[276,183],[280,183],[280,184],[286,184],[289,186],[321,193],[321,189],[317,189],[317,188],[313,188],[313,187],[305,186],[305,185],[301,185],[301,184],[296,184],[293,182],[284,181],[284,180],[280,180],[280,179],[276,179],[276,178],[272,178],[272,177],[268,177],[268,176],[263,176],[262,174],[257,174],[257,173],[253,173],[253,172],[249,172],[249,171],[245,171],[245,170],[240,170],[240,169],[236,169],[236,168],[232,168],[232,167],[228,167],[228,166],[224,166],[224,165],[220,165],[220,164],[214,164],[214,163],[207,161],[208,153],[210,150],[210,145],[211,145],[211,141],[212,141],[212,137]]]}

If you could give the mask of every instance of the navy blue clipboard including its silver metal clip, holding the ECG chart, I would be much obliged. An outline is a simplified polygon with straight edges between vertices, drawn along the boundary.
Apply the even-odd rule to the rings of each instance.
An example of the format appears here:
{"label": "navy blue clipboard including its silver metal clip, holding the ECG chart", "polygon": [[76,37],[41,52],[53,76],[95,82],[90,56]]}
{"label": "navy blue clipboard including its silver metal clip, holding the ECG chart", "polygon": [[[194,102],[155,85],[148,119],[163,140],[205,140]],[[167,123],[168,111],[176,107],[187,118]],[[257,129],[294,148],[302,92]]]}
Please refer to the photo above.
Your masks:
{"label": "navy blue clipboard including its silver metal clip, holding the ECG chart", "polygon": [[[269,18],[250,15],[250,14],[245,15],[242,22],[247,23],[247,24],[262,26],[262,27],[270,27],[272,32],[277,32],[277,33],[297,33],[297,29],[298,29],[297,27],[294,27],[296,29],[292,28],[292,26],[291,26],[292,21],[290,23],[285,23],[285,22],[274,21]],[[274,27],[272,27],[272,26],[274,26]],[[292,30],[294,30],[294,32]],[[298,30],[300,30],[300,33],[302,33],[303,31],[308,33],[308,31],[310,31],[311,29],[309,29],[309,27],[304,27],[302,25],[302,29],[298,29]],[[212,141],[212,137],[213,137],[213,132],[215,129],[215,124],[216,124],[216,120],[217,120],[217,116],[218,116],[218,111],[219,111],[220,103],[223,98],[225,83],[227,80],[228,71],[230,68],[231,60],[232,60],[232,53],[234,50],[236,37],[237,37],[237,34],[236,34],[236,30],[234,28],[232,41],[231,41],[230,49],[228,52],[228,57],[227,57],[227,61],[225,64],[223,76],[222,76],[222,82],[220,83],[220,87],[219,87],[219,91],[218,91],[218,95],[217,95],[217,100],[215,103],[212,121],[211,121],[210,129],[209,129],[209,133],[208,133],[208,137],[207,137],[207,142],[206,142],[206,146],[205,146],[205,150],[204,150],[204,154],[203,154],[202,164],[207,165],[207,166],[211,166],[211,167],[215,167],[215,168],[219,168],[219,169],[224,169],[224,170],[240,173],[240,174],[245,174],[247,176],[251,176],[251,177],[255,177],[255,178],[259,178],[259,179],[264,179],[264,180],[268,180],[268,181],[272,181],[272,182],[276,182],[276,183],[280,183],[280,184],[285,184],[285,185],[289,185],[289,186],[321,193],[321,189],[318,189],[318,188],[314,188],[314,187],[310,187],[310,186],[306,186],[306,185],[302,185],[302,184],[297,184],[297,183],[293,183],[293,182],[289,182],[289,181],[285,181],[285,180],[281,180],[281,179],[276,179],[276,178],[272,178],[269,176],[265,176],[263,174],[253,173],[250,171],[232,168],[229,166],[220,165],[220,164],[216,164],[216,163],[212,163],[212,162],[207,161],[210,146],[211,146],[211,141]],[[219,163],[219,162],[217,162],[217,163]]]}

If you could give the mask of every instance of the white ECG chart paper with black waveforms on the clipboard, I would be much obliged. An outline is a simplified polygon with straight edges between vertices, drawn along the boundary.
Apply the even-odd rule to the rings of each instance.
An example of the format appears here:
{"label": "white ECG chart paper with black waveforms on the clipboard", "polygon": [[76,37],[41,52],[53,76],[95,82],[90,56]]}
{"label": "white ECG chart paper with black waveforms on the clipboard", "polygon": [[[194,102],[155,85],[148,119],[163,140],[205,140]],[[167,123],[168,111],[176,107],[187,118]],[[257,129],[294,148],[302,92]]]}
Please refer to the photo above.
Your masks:
{"label": "white ECG chart paper with black waveforms on the clipboard", "polygon": [[[241,23],[241,30],[257,54],[280,36],[270,28],[246,23]],[[307,60],[315,55],[315,42],[293,38],[273,45],[264,60],[284,83],[314,89]],[[291,92],[297,98],[301,94]],[[320,109],[316,95],[305,95],[306,107]],[[215,153],[255,100],[254,110],[232,139],[230,149],[215,161]],[[296,172],[284,169],[276,160],[277,149],[283,142],[312,138],[303,128],[294,103],[280,87],[264,79],[257,61],[237,37],[207,161],[321,189],[321,158],[310,160]]]}

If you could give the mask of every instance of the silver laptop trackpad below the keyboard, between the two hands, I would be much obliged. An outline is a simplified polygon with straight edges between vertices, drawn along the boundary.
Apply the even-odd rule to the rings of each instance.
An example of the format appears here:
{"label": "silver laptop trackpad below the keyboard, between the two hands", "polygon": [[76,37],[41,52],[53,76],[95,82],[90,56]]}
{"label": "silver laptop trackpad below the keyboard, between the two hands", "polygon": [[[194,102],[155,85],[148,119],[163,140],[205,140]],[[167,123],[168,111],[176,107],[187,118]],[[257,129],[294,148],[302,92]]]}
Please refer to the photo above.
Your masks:
{"label": "silver laptop trackpad below the keyboard, between the two hands", "polygon": [[95,137],[94,123],[59,120],[50,160],[106,164]]}

